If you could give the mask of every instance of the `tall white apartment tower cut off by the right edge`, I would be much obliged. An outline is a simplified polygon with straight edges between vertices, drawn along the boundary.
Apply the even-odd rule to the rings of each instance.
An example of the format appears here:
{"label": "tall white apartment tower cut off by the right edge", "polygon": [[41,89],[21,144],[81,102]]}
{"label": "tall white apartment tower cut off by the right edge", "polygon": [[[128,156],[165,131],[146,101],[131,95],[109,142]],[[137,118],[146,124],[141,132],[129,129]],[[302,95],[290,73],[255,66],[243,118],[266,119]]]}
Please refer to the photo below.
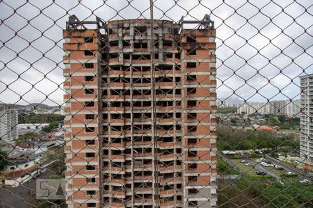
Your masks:
{"label": "tall white apartment tower cut off by the right edge", "polygon": [[313,159],[313,74],[300,76],[300,156]]}

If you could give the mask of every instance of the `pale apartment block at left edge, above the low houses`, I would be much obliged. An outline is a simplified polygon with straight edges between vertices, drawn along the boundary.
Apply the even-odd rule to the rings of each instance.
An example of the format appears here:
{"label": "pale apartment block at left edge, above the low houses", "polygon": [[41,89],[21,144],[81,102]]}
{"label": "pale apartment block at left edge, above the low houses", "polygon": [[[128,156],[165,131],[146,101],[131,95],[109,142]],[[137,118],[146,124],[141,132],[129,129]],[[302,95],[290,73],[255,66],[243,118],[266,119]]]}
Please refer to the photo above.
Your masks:
{"label": "pale apartment block at left edge, above the low houses", "polygon": [[17,139],[17,110],[0,105],[0,138],[1,141],[12,143]]}

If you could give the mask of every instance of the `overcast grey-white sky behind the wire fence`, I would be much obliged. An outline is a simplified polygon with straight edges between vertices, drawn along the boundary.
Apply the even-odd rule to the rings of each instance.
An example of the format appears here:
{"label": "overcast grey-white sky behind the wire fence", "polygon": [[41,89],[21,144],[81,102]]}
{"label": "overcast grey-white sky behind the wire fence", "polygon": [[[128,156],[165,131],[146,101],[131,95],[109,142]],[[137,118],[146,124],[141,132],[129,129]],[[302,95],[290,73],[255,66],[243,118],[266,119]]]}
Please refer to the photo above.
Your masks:
{"label": "overcast grey-white sky behind the wire fence", "polygon": [[[70,15],[150,18],[148,0],[0,1],[0,102],[63,103],[62,29]],[[298,98],[313,73],[312,1],[154,0],[154,18],[215,21],[218,97]]]}

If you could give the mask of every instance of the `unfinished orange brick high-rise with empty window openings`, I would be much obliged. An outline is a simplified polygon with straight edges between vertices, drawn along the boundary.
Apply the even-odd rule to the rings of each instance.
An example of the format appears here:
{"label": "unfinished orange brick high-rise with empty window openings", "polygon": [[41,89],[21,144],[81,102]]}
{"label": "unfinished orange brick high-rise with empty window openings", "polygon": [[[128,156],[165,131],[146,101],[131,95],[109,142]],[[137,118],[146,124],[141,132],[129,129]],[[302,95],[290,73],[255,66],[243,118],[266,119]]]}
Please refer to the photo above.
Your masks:
{"label": "unfinished orange brick high-rise with empty window openings", "polygon": [[215,207],[213,21],[85,23],[63,31],[68,207]]}

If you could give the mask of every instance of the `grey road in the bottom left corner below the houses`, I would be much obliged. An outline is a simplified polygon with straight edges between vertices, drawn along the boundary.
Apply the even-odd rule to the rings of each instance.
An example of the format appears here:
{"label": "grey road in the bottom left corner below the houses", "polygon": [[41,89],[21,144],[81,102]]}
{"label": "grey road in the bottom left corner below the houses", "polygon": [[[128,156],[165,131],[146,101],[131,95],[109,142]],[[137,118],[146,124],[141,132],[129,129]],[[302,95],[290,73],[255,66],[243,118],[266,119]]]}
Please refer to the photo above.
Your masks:
{"label": "grey road in the bottom left corner below the houses", "polygon": [[[52,175],[51,171],[46,171],[38,176],[38,179],[49,178]],[[36,180],[31,179],[28,182],[25,182],[19,187],[0,187],[0,207],[22,207],[29,208],[33,207],[27,203],[24,199],[29,198],[31,194],[35,193],[36,189]]]}

